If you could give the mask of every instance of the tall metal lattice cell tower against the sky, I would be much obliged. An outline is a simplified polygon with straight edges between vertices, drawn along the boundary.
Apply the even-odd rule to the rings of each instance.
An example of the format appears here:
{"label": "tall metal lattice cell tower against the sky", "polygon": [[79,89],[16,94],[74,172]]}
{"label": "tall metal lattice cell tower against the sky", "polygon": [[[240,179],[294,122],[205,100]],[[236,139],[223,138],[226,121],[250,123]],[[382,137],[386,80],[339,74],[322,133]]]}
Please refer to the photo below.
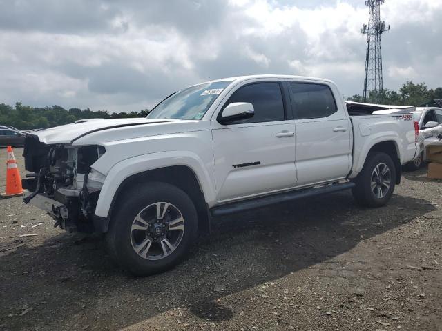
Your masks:
{"label": "tall metal lattice cell tower against the sky", "polygon": [[367,101],[369,91],[383,92],[381,35],[390,30],[390,26],[386,27],[385,22],[381,21],[381,5],[383,3],[384,0],[365,1],[365,6],[369,8],[369,14],[368,26],[367,24],[362,26],[362,33],[367,34],[364,102]]}

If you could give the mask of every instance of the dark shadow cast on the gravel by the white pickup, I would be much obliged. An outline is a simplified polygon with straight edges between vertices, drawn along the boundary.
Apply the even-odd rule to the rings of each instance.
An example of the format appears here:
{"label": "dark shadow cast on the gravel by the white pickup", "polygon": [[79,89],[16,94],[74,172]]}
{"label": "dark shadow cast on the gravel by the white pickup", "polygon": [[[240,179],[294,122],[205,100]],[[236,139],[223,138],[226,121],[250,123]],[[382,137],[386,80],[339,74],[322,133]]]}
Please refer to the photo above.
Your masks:
{"label": "dark shadow cast on the gravel by the white pickup", "polygon": [[340,192],[215,219],[189,259],[145,278],[115,267],[102,237],[59,234],[0,257],[0,325],[115,330],[178,307],[204,320],[231,319],[240,312],[217,299],[333,259],[434,210],[396,195],[386,207],[361,209]]}

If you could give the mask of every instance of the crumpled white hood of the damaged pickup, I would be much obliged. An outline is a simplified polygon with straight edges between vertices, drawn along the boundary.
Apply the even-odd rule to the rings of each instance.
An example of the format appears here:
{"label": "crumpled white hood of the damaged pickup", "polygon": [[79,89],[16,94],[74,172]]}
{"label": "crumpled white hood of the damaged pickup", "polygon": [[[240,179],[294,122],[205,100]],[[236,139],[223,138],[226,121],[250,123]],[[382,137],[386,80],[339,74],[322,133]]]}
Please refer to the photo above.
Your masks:
{"label": "crumpled white hood of the damaged pickup", "polygon": [[87,134],[108,130],[112,128],[122,128],[125,126],[150,126],[155,123],[175,122],[178,119],[90,119],[80,120],[76,123],[56,126],[41,131],[32,132],[30,135],[39,137],[41,143],[72,143],[76,139],[84,137]]}

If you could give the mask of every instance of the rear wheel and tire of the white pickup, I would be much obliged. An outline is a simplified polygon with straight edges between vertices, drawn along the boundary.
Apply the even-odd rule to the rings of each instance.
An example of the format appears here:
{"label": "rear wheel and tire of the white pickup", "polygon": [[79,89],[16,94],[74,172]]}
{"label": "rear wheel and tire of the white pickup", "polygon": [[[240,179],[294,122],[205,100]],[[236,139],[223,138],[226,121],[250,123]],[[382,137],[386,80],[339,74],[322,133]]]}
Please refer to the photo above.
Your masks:
{"label": "rear wheel and tire of the white pickup", "polygon": [[381,207],[392,197],[396,185],[396,168],[384,152],[370,152],[352,189],[356,202],[365,207]]}

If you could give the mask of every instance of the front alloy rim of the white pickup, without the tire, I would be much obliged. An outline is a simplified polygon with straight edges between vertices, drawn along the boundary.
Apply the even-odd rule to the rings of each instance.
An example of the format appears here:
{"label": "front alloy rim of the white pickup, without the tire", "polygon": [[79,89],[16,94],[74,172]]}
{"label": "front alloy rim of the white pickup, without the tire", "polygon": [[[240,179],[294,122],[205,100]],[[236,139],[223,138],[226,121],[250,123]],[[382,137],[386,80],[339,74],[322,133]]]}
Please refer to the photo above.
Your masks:
{"label": "front alloy rim of the white pickup, without the tire", "polygon": [[131,226],[133,250],[143,259],[158,260],[169,256],[180,245],[184,217],[175,205],[156,202],[137,214]]}

